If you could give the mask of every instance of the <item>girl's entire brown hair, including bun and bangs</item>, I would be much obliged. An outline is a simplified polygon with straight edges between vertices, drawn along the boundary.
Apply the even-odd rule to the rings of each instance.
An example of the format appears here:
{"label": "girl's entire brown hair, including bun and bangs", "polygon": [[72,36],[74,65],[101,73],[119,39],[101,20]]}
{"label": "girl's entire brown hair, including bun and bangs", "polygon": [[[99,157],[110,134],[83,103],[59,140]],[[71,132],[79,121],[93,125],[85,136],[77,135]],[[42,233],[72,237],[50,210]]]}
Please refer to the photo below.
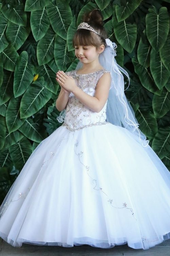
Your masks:
{"label": "girl's entire brown hair, including bun and bangs", "polygon": [[[85,13],[83,16],[83,22],[88,23],[92,28],[95,29],[102,37],[107,38],[107,33],[103,27],[103,16],[98,9],[94,9],[89,13]],[[97,48],[101,44],[106,46],[105,39],[100,37],[97,33],[87,30],[78,29],[73,37],[73,46],[75,45],[94,45]]]}

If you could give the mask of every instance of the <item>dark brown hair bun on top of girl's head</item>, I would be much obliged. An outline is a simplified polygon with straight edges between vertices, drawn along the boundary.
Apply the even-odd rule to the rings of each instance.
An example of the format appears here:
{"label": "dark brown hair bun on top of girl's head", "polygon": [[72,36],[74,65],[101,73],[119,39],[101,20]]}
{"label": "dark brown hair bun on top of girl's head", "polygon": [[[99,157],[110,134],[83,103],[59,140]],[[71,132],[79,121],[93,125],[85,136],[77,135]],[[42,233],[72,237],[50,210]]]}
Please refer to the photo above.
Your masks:
{"label": "dark brown hair bun on top of girl's head", "polygon": [[103,26],[103,16],[101,14],[101,11],[98,9],[94,9],[89,13],[85,13],[83,16],[83,21]]}

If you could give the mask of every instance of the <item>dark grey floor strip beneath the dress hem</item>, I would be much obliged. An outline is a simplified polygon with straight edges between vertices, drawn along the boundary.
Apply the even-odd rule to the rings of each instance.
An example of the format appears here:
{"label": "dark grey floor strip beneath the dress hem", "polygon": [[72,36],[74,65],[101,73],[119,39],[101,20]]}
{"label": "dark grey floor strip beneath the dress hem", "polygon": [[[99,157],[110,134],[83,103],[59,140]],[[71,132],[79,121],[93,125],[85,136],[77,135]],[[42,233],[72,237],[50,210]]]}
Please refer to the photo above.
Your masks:
{"label": "dark grey floor strip beneath the dress hem", "polygon": [[13,247],[0,238],[0,256],[37,256],[37,255],[70,255],[70,256],[170,256],[170,239],[148,250],[133,249],[127,244],[117,245],[110,249],[79,245],[73,247],[39,246],[22,244],[21,247]]}

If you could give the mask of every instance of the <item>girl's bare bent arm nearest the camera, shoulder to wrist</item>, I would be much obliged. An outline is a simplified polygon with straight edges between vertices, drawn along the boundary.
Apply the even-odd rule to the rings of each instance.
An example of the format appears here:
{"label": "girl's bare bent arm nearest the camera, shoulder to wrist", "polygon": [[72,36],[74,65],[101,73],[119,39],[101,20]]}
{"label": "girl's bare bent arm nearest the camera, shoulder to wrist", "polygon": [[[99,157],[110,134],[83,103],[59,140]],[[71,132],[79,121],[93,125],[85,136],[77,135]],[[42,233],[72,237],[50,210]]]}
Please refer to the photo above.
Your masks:
{"label": "girl's bare bent arm nearest the camera, shoulder to wrist", "polygon": [[104,107],[106,100],[108,98],[110,84],[111,84],[111,74],[109,72],[106,72],[99,79],[94,96],[88,95],[78,86],[73,87],[72,93],[87,108],[89,108],[94,112],[100,112]]}

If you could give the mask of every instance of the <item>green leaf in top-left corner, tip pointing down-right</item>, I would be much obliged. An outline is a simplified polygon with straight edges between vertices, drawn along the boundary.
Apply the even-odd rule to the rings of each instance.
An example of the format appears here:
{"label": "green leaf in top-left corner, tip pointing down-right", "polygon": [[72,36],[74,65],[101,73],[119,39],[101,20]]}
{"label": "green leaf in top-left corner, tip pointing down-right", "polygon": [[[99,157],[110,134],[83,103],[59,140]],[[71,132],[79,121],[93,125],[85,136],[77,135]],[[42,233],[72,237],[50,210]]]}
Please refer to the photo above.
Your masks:
{"label": "green leaf in top-left corner, tip pointing down-right", "polygon": [[18,4],[15,8],[8,7],[9,4],[5,4],[1,8],[1,12],[5,16],[6,19],[10,20],[11,22],[21,25],[27,26],[27,14],[24,12],[23,4]]}

